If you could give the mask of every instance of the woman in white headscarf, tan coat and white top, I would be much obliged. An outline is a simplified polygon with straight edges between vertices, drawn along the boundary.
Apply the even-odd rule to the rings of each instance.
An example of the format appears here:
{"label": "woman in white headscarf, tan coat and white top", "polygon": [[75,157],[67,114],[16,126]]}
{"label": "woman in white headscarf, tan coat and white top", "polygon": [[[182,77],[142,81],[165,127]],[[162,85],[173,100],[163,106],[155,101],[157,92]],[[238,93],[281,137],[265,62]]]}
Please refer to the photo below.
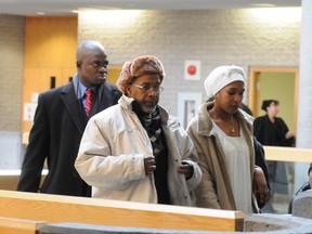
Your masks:
{"label": "woman in white headscarf, tan coat and white top", "polygon": [[256,194],[266,203],[270,191],[255,165],[253,117],[239,108],[246,75],[237,66],[219,66],[204,86],[213,102],[204,103],[186,131],[199,157],[203,180],[195,190],[199,207],[259,212]]}

